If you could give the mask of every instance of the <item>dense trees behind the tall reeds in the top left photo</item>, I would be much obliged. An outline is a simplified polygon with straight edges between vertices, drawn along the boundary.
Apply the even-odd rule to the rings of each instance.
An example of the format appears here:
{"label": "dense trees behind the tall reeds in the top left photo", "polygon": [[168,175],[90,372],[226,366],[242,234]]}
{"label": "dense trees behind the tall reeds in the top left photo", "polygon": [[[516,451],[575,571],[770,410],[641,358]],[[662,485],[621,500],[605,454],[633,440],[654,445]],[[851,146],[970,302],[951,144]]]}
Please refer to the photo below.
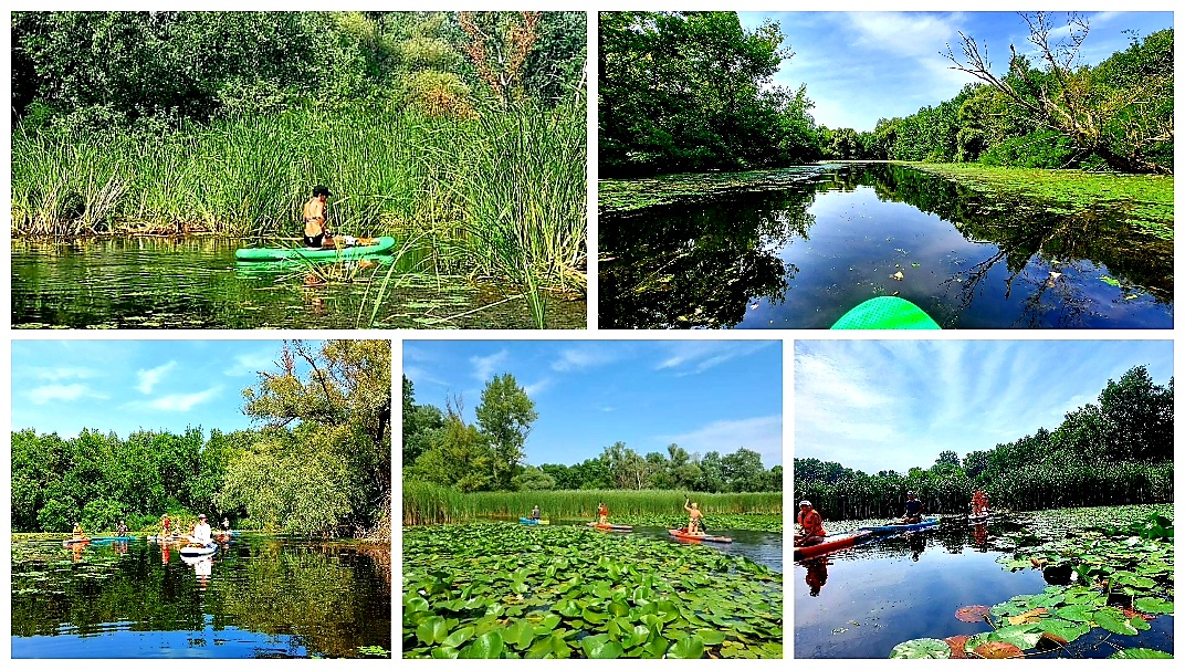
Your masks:
{"label": "dense trees behind the tall reeds in the top left photo", "polygon": [[13,12],[12,119],[165,132],[300,107],[472,115],[584,87],[582,12]]}

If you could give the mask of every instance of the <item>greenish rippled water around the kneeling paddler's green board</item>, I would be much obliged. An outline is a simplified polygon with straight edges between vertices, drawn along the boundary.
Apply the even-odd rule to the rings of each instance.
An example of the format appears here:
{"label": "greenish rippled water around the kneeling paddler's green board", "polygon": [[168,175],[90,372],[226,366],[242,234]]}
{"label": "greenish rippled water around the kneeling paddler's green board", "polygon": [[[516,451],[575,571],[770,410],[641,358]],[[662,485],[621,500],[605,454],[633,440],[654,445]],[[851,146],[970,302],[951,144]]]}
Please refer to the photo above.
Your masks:
{"label": "greenish rippled water around the kneeling paddler's green board", "polygon": [[[401,257],[371,323],[389,266],[346,266],[353,282],[306,286],[307,270],[236,263],[222,238],[13,240],[12,323],[71,328],[534,327],[513,287],[409,274]],[[390,260],[387,260],[390,262]],[[408,267],[404,267],[408,266]],[[374,276],[373,281],[365,279]],[[585,304],[545,294],[549,327],[585,327]]]}

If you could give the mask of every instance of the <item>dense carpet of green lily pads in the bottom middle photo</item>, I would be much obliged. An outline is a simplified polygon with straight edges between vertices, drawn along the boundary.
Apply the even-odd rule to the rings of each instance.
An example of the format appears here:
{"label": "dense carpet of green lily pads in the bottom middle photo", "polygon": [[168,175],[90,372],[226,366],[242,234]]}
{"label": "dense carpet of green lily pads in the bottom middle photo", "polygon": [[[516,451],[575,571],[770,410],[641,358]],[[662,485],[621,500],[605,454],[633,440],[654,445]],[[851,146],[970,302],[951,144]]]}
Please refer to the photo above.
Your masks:
{"label": "dense carpet of green lily pads in the bottom middle photo", "polygon": [[403,534],[406,658],[781,658],[782,578],[574,527]]}

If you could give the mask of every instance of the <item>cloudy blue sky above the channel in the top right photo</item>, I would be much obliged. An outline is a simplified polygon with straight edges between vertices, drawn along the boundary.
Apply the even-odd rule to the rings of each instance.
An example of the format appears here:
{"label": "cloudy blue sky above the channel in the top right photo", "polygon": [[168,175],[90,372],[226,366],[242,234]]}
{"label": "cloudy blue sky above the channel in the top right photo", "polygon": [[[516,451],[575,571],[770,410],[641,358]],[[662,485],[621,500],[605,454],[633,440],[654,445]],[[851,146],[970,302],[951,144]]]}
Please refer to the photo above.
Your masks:
{"label": "cloudy blue sky above the channel in the top right photo", "polygon": [[[1085,64],[1097,64],[1127,49],[1125,30],[1146,37],[1173,25],[1171,12],[1087,12],[1090,33],[1082,47]],[[1055,25],[1064,26],[1064,13]],[[818,123],[828,128],[872,130],[877,119],[908,116],[954,97],[969,75],[950,70],[941,53],[959,51],[959,32],[974,37],[997,74],[1008,65],[1008,45],[1031,52],[1029,28],[1016,12],[742,12],[748,30],[767,18],[777,21],[794,57],[782,63],[774,83],[807,97]]]}

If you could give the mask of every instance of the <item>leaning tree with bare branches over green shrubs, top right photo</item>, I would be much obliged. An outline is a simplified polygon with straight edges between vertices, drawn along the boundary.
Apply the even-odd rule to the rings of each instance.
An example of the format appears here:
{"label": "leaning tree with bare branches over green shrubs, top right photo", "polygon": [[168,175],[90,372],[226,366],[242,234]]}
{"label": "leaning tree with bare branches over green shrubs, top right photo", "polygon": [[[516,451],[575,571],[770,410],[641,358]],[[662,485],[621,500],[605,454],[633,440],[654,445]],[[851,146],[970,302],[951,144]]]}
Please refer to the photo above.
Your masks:
{"label": "leaning tree with bare branches over green shrubs, top right photo", "polygon": [[946,53],[953,69],[1005,95],[1045,128],[1068,138],[1083,157],[1097,155],[1123,172],[1172,172],[1171,160],[1158,155],[1161,145],[1173,141],[1172,31],[1162,31],[1166,36],[1151,49],[1134,40],[1120,63],[1091,69],[1080,65],[1090,32],[1084,17],[1069,14],[1064,27],[1055,26],[1044,12],[1021,17],[1042,68],[1011,45],[1008,71],[998,76],[986,46],[981,51],[973,37],[959,33],[962,57],[949,46]]}

